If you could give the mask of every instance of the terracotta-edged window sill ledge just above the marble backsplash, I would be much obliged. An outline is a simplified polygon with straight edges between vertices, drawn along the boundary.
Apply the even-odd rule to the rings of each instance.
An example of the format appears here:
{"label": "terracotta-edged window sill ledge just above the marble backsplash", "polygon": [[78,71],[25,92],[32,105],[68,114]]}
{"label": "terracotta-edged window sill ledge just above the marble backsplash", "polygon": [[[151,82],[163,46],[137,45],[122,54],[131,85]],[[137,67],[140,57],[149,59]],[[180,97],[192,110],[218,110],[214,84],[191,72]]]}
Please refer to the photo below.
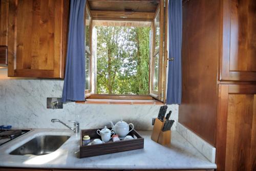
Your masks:
{"label": "terracotta-edged window sill ledge just above the marble backsplash", "polygon": [[158,100],[113,100],[113,99],[87,99],[77,101],[79,104],[105,104],[105,105],[164,105]]}

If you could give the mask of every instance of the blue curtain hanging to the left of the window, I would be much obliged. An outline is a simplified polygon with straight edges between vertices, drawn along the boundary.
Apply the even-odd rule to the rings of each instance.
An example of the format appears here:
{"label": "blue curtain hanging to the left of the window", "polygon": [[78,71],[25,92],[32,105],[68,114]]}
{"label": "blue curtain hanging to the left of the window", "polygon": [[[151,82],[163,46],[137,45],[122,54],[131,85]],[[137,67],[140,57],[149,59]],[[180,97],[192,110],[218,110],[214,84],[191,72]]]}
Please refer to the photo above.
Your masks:
{"label": "blue curtain hanging to the left of the window", "polygon": [[71,0],[66,73],[62,102],[84,101],[85,48],[84,8],[86,0]]}

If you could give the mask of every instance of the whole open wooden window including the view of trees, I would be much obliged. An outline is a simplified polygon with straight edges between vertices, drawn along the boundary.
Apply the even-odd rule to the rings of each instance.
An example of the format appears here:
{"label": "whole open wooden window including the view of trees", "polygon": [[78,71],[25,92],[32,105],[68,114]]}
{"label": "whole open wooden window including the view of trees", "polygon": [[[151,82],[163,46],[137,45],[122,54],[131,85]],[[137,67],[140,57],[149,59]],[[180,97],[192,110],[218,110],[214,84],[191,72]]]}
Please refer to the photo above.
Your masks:
{"label": "whole open wooden window including the view of trees", "polygon": [[[101,3],[103,5],[105,1]],[[129,6],[129,3],[123,3],[123,6]],[[164,57],[167,17],[164,1],[136,3],[144,3],[148,8],[140,4],[132,11],[120,12],[119,7],[107,8],[106,4],[106,9],[99,10],[92,1],[87,3],[86,93],[92,94],[91,99],[101,99],[102,96],[105,99],[116,99],[117,96],[125,99],[128,95],[129,99],[133,99],[133,95],[137,99],[136,95],[139,95],[143,100],[148,96],[148,100],[154,97],[164,101],[164,65],[167,61]],[[90,10],[90,5],[93,10]],[[130,5],[132,7],[134,3],[130,2]],[[154,11],[139,11],[142,7],[143,11]],[[140,40],[137,31],[144,32]],[[140,52],[140,41],[144,42],[143,52]],[[142,62],[140,53],[144,54]]]}

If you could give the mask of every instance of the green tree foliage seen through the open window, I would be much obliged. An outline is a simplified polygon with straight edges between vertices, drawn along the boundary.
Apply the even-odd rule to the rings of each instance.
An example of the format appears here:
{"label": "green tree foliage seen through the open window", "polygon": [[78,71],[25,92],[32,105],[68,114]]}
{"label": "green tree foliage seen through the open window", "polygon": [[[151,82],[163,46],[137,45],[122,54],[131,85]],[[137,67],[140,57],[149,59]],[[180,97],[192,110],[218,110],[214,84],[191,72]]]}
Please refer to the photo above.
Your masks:
{"label": "green tree foliage seen through the open window", "polygon": [[97,27],[97,93],[148,94],[150,28]]}

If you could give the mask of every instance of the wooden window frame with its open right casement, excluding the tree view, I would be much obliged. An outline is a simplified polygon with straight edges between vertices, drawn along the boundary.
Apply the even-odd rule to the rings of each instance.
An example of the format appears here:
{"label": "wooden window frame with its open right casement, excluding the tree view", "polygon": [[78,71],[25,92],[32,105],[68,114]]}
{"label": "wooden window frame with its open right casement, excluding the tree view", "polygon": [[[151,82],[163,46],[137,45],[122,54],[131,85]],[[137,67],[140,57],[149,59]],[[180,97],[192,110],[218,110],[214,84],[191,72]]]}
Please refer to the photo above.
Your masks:
{"label": "wooden window frame with its open right casement, excluding the tree view", "polygon": [[[159,100],[165,103],[165,88],[166,88],[166,65],[167,65],[167,6],[168,2],[164,0],[159,1],[159,5],[156,9],[154,15],[144,13],[142,15],[142,19],[134,17],[130,17],[131,21],[151,21],[152,22],[152,31],[151,31],[151,47],[150,47],[150,74],[149,74],[149,94],[147,95],[127,95],[127,94],[94,94],[92,92],[92,59],[90,59],[90,89],[86,90],[86,98],[87,99],[114,99],[114,100]],[[99,15],[102,11],[91,11],[89,8],[89,4],[87,2],[87,9],[91,16],[91,26],[90,26],[90,51],[86,49],[86,52],[90,52],[90,57],[92,58],[92,28],[93,20],[99,19]],[[117,20],[116,13],[113,12],[105,12],[108,13],[108,17],[100,18],[101,20]],[[159,25],[160,25],[160,40],[159,40],[159,49],[155,51],[155,18],[159,13]],[[141,13],[142,14],[142,13]],[[122,14],[125,15],[125,14]],[[147,16],[146,16],[147,15]],[[102,16],[102,15],[101,15]],[[127,15],[129,16],[129,15]],[[118,16],[119,17],[119,16]],[[127,20],[127,19],[118,19],[118,20]],[[166,32],[166,33],[164,33]],[[153,78],[154,78],[154,57],[159,54],[159,77],[158,77],[158,91],[153,91]],[[94,78],[93,78],[94,79]]]}

